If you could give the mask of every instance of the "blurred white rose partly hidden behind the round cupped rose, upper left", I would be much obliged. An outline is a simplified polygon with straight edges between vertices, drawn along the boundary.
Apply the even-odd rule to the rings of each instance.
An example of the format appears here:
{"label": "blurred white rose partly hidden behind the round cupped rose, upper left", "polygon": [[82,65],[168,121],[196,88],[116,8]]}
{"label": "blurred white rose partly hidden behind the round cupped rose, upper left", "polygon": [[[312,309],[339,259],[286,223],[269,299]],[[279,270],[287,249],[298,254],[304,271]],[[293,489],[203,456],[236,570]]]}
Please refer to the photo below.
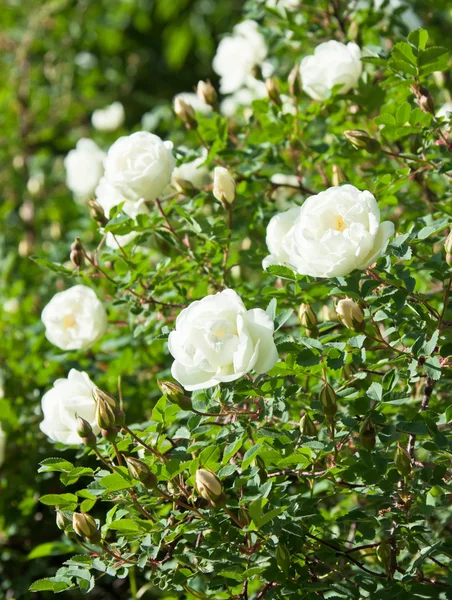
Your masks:
{"label": "blurred white rose partly hidden behind the round cupped rose, upper left", "polygon": [[105,152],[93,140],[82,138],[64,159],[66,185],[76,196],[87,198],[104,174]]}

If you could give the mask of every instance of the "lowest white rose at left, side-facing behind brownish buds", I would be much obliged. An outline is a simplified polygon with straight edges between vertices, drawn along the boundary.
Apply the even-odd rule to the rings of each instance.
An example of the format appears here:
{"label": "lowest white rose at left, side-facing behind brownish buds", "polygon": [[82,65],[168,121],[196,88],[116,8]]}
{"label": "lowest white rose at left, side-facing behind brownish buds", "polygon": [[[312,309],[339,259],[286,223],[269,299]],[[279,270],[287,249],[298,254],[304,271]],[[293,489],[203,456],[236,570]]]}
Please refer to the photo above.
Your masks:
{"label": "lowest white rose at left, side-facing behind brownish buds", "polygon": [[82,417],[93,428],[96,424],[96,403],[93,398],[94,383],[83,371],[71,369],[67,379],[57,379],[53,388],[41,399],[44,420],[39,427],[54,442],[81,444],[77,433],[77,417]]}

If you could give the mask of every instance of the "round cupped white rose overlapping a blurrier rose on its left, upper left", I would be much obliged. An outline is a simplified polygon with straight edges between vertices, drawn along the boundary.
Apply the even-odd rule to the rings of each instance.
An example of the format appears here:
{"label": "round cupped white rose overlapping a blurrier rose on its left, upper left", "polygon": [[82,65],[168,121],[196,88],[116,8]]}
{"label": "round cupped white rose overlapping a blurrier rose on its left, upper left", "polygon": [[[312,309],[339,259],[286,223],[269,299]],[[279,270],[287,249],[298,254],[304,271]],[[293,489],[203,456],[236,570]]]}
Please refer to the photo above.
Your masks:
{"label": "round cupped white rose overlapping a blurrier rose on its left, upper left", "polygon": [[129,200],[155,200],[171,180],[172,148],[147,131],[120,137],[105,159],[105,178]]}

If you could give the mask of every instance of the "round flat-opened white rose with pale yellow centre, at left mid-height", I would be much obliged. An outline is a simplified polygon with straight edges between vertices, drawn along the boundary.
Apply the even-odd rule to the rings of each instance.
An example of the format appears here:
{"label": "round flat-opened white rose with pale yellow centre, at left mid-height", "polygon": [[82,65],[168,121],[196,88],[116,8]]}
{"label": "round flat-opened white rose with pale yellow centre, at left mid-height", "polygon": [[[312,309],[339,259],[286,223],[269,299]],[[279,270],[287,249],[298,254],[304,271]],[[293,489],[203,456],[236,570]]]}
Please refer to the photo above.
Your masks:
{"label": "round flat-opened white rose with pale yellow centre, at left mid-height", "polygon": [[61,350],[86,350],[107,329],[107,315],[93,290],[85,285],[59,292],[42,311],[46,337]]}

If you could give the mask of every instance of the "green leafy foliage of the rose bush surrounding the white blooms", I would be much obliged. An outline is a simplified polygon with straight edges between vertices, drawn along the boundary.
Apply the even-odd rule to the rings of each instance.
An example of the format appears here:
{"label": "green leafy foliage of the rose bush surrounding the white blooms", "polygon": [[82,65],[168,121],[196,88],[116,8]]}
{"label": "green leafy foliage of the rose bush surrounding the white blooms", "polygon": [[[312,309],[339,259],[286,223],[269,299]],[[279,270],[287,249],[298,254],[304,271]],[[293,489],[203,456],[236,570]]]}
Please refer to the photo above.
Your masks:
{"label": "green leafy foliage of the rose bush surrounding the white blooms", "polygon": [[[168,599],[452,597],[452,273],[444,250],[452,161],[449,131],[435,117],[450,88],[449,74],[437,73],[450,65],[443,48],[450,42],[441,35],[450,27],[450,9],[439,2],[442,18],[432,19],[431,29],[427,24],[430,34],[407,35],[402,9],[353,12],[345,4],[312,1],[290,12],[250,0],[246,16],[264,32],[283,94],[290,96],[294,64],[329,39],[368,49],[356,90],[325,102],[297,91],[293,111],[260,99],[251,116],[246,110],[229,120],[218,111],[197,114],[191,129],[169,110],[152,111],[157,132],[175,142],[178,162],[191,160],[202,144],[210,169],[230,170],[237,182],[232,205],[217,202],[205,186],[167,195],[137,223],[118,210],[98,228],[87,207],[70,198],[60,164],[61,153],[87,128],[84,104],[102,87],[98,76],[76,87],[81,96],[74,100],[71,92],[67,105],[61,96],[55,110],[66,113],[63,120],[40,116],[38,126],[33,115],[55,114],[52,97],[40,94],[36,106],[27,105],[19,90],[25,145],[17,140],[13,148],[19,158],[1,209],[8,224],[2,293],[20,299],[18,312],[5,313],[2,325],[8,362],[0,418],[8,460],[1,525],[14,541],[15,523],[36,511],[40,495],[33,527],[39,529],[43,515],[48,527],[55,507],[67,523],[74,511],[89,513],[102,533],[100,543],[90,543],[70,524],[66,536],[55,527],[28,556],[39,577],[31,591],[95,594],[105,580],[128,578],[132,597],[138,586],[140,596],[149,591]],[[170,5],[161,3],[160,10],[171,12]],[[43,6],[50,12],[53,5]],[[100,11],[98,19],[90,27],[102,29]],[[55,33],[54,43],[59,39]],[[48,58],[40,54],[45,40],[33,43]],[[114,54],[113,48],[113,64]],[[100,47],[99,55],[108,56],[107,49]],[[66,60],[63,65],[73,61],[72,50]],[[30,68],[25,58],[22,68]],[[120,71],[124,95],[133,95]],[[132,101],[128,114],[134,102],[140,101]],[[367,132],[378,147],[356,149],[344,136],[350,130]],[[96,135],[105,147],[114,139]],[[41,171],[45,187],[24,198],[24,182]],[[298,184],[272,182],[277,173],[295,175]],[[385,255],[365,271],[331,279],[297,275],[287,266],[263,271],[270,218],[326,189],[338,173],[371,191],[382,216],[394,222]],[[13,244],[23,229],[18,260]],[[131,231],[139,233],[132,246],[100,244],[107,232]],[[76,235],[85,256],[80,269],[68,261]],[[92,351],[62,353],[45,340],[38,317],[57,290],[76,283],[96,290],[108,307],[109,329]],[[268,374],[193,392],[180,405],[157,385],[171,377],[168,334],[185,306],[225,287],[275,320],[280,361]],[[338,322],[334,306],[345,297],[364,310],[362,331]],[[318,337],[300,326],[300,303],[316,313]],[[96,450],[50,449],[40,434],[39,398],[72,367],[121,398],[127,426],[116,442],[99,438]],[[326,382],[335,391],[335,414],[321,402]],[[303,415],[316,424],[316,436],[300,429]],[[35,486],[22,466],[31,450],[30,467],[40,463]],[[139,457],[157,487],[132,477],[125,456]],[[196,491],[198,468],[221,480],[224,504],[213,506]],[[13,548],[2,551],[4,564],[17,556]],[[58,570],[46,562],[65,554]],[[6,591],[11,584],[2,585]]]}

